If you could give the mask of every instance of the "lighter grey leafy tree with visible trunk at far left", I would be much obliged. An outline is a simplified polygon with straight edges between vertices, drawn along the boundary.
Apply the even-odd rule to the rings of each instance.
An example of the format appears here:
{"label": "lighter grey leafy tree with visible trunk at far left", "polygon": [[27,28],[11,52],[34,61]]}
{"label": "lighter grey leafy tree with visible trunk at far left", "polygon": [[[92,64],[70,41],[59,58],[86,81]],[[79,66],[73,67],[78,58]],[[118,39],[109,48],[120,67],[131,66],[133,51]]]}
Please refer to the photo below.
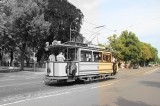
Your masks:
{"label": "lighter grey leafy tree with visible trunk at far left", "polygon": [[16,47],[21,54],[21,70],[27,48],[38,48],[48,36],[50,24],[44,20],[43,5],[45,2],[40,4],[38,0],[5,1],[4,6],[9,13],[6,30],[12,41],[11,46]]}

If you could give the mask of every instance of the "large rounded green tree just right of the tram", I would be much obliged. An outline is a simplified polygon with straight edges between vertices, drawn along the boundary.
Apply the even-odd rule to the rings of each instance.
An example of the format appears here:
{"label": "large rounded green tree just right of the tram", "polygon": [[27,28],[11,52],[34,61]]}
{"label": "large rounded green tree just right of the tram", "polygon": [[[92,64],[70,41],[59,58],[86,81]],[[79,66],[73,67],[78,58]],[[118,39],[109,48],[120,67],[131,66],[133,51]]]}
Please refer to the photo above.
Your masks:
{"label": "large rounded green tree just right of the tram", "polygon": [[110,47],[116,50],[119,60],[136,63],[140,58],[139,39],[132,32],[123,31],[119,37],[113,35],[108,38]]}

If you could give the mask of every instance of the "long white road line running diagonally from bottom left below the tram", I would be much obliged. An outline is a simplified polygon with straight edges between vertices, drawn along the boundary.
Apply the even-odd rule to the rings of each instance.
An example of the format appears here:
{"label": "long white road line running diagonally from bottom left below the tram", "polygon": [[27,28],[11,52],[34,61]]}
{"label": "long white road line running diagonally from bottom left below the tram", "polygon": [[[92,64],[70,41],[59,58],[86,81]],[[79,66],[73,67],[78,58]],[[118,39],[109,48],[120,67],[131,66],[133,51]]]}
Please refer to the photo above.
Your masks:
{"label": "long white road line running diagonally from bottom left below the tram", "polygon": [[50,95],[47,95],[47,96],[39,96],[39,97],[35,97],[35,98],[30,98],[30,99],[25,99],[25,100],[19,100],[19,101],[12,102],[12,103],[2,104],[0,106],[13,105],[13,104],[22,103],[22,102],[25,102],[25,101],[43,99],[43,98],[54,97],[54,96],[61,96],[61,95],[71,94],[71,93],[80,92],[80,91],[86,91],[86,90],[91,90],[91,89],[102,88],[102,87],[113,85],[113,84],[115,84],[115,83],[117,83],[119,81],[120,80],[113,81],[111,83],[104,84],[104,85],[101,85],[101,86],[97,86],[97,85],[94,84],[94,85],[91,85],[90,87],[77,87],[77,88],[73,88],[73,89],[70,89],[70,90],[60,90],[60,91],[56,91],[56,92],[50,92]]}

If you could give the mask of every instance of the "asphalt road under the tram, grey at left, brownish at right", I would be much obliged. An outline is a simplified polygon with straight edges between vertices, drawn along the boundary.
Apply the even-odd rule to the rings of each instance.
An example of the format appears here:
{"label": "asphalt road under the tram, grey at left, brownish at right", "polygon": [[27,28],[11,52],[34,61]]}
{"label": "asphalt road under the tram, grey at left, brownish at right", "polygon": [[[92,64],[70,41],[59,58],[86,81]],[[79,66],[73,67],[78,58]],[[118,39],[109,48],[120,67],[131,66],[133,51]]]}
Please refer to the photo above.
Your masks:
{"label": "asphalt road under the tram, grey at left, brownish at right", "polygon": [[44,73],[0,73],[0,106],[160,106],[158,67],[119,71],[101,82],[46,86]]}

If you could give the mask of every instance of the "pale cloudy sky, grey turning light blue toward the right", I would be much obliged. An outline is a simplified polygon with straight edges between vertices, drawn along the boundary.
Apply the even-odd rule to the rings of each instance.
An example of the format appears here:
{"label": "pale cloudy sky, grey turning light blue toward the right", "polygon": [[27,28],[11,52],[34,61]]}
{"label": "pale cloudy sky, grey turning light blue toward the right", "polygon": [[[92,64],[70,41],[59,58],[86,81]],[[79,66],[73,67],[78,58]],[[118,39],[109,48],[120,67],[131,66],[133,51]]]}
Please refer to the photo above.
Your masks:
{"label": "pale cloudy sky, grey turning light blue toward the right", "polygon": [[81,33],[93,44],[128,30],[160,57],[160,0],[68,0],[84,14]]}

